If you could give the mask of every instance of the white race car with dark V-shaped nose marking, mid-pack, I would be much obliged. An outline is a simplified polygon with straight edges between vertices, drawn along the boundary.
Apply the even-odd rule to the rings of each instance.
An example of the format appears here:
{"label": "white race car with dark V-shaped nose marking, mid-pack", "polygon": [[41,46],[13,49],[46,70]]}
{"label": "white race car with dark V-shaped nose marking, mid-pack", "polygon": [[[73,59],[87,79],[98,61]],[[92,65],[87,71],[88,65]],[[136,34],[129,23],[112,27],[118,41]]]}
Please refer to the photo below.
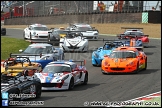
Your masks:
{"label": "white race car with dark V-shaped nose marking, mid-pack", "polygon": [[87,52],[89,44],[88,40],[79,31],[68,31],[67,36],[60,39],[60,48],[64,52]]}

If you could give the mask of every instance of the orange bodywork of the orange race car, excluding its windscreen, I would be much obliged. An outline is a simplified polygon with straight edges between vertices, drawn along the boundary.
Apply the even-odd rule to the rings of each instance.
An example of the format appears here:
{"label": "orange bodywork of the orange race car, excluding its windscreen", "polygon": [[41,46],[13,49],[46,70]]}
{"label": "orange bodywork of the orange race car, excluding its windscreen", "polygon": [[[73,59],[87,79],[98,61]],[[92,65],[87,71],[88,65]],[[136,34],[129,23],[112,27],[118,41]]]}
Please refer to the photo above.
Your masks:
{"label": "orange bodywork of the orange race car, excluding its windscreen", "polygon": [[147,56],[143,52],[138,51],[136,48],[118,47],[114,51],[131,51],[136,53],[137,56],[132,58],[112,58],[105,56],[101,65],[101,70],[103,73],[130,73],[136,71],[137,69],[146,68]]}

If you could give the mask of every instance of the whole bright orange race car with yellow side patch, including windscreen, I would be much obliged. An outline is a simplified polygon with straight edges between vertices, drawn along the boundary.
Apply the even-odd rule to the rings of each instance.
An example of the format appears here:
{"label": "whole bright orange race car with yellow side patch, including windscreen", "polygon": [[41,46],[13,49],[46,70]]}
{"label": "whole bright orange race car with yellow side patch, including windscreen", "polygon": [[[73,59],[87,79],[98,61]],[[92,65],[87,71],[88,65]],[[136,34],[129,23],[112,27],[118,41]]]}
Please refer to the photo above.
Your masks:
{"label": "whole bright orange race car with yellow side patch, including windscreen", "polygon": [[135,47],[118,47],[110,56],[104,56],[101,65],[103,74],[109,73],[138,73],[147,68],[147,56]]}

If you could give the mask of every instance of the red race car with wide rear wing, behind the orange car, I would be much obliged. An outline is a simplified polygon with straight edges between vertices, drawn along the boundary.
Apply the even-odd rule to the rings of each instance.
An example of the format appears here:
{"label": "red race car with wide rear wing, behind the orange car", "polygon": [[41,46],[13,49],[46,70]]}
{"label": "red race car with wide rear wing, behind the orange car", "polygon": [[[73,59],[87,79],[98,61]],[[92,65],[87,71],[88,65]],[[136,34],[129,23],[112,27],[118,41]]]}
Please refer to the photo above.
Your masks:
{"label": "red race car with wide rear wing, behind the orange car", "polygon": [[117,37],[121,39],[126,35],[135,35],[138,39],[142,40],[143,46],[148,47],[149,43],[149,35],[145,35],[141,29],[143,28],[134,28],[134,27],[121,27],[121,29],[125,29],[124,33],[118,34]]}

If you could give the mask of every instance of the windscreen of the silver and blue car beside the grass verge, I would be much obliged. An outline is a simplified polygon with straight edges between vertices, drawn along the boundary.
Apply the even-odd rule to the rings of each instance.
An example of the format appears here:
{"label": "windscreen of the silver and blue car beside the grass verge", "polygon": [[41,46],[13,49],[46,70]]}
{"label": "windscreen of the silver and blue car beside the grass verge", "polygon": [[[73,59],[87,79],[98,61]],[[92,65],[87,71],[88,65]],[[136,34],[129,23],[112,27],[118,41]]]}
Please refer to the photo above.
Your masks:
{"label": "windscreen of the silver and blue car beside the grass verge", "polygon": [[24,54],[49,54],[52,53],[52,46],[29,46]]}

